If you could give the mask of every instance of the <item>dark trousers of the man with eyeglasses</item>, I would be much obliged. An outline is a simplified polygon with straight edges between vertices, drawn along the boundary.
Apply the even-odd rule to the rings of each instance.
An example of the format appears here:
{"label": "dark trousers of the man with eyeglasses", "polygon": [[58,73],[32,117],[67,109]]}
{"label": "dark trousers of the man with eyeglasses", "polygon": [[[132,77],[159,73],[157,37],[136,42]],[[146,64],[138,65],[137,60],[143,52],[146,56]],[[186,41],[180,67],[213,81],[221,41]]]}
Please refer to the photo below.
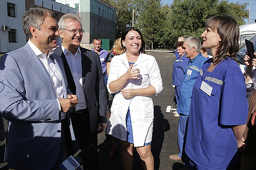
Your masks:
{"label": "dark trousers of the man with eyeglasses", "polygon": [[[90,134],[90,116],[88,109],[84,109],[82,113],[72,114],[72,125],[75,132],[75,137],[78,140],[81,150],[88,145],[94,145],[98,147],[98,133],[97,130],[93,134]],[[93,161],[84,160],[84,170],[98,170],[98,154]]]}

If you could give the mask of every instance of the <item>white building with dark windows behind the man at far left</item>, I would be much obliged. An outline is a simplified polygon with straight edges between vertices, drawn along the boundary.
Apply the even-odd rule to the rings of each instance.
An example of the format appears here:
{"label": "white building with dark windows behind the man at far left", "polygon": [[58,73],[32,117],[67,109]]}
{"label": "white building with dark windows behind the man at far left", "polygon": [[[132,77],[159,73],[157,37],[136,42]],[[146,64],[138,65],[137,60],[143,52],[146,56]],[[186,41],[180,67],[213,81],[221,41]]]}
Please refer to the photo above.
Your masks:
{"label": "white building with dark windows behind the man at far left", "polygon": [[[75,8],[52,0],[1,0],[0,6],[0,54],[16,50],[26,44],[22,14],[33,6],[46,7],[56,13],[57,20],[66,14],[79,14]],[[61,42],[61,39],[58,38]]]}

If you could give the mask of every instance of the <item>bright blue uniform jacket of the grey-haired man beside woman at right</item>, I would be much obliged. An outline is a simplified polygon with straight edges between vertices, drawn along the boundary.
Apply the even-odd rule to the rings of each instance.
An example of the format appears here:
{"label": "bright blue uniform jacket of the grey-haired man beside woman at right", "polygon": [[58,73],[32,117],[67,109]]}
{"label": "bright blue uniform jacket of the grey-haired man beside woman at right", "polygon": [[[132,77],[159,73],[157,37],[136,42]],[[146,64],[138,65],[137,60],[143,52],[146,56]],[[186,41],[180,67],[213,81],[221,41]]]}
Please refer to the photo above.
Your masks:
{"label": "bright blue uniform jacket of the grey-haired man beside woman at right", "polygon": [[183,115],[189,115],[193,85],[204,61],[206,61],[206,58],[201,53],[197,54],[192,60],[188,60],[188,69],[181,81],[179,105],[177,108],[177,112]]}

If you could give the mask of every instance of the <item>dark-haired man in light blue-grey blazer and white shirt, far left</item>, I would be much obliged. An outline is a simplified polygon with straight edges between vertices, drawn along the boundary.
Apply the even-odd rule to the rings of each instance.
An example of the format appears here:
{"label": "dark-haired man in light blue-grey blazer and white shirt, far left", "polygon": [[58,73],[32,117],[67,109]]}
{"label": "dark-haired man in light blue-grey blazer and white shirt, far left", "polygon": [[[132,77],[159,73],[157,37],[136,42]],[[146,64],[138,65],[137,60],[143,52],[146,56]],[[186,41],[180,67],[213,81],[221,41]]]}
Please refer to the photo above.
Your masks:
{"label": "dark-haired man in light blue-grey blazer and white shirt, far left", "polygon": [[75,141],[69,109],[78,104],[67,88],[63,62],[51,50],[59,36],[55,14],[43,7],[22,16],[29,39],[0,58],[0,111],[8,120],[8,167],[59,170]]}

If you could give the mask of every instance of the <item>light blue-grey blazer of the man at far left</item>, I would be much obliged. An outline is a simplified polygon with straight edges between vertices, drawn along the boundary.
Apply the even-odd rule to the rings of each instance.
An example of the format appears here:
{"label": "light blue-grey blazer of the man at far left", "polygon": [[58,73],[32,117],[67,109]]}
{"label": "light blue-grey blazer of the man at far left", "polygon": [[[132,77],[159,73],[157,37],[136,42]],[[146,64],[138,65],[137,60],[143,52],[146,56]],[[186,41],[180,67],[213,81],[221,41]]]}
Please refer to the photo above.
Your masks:
{"label": "light blue-grey blazer of the man at far left", "polygon": [[[53,54],[67,88],[63,62]],[[48,170],[60,148],[61,119],[49,73],[26,43],[0,58],[0,111],[8,120],[8,167],[17,170]],[[67,112],[72,141],[75,141]]]}

